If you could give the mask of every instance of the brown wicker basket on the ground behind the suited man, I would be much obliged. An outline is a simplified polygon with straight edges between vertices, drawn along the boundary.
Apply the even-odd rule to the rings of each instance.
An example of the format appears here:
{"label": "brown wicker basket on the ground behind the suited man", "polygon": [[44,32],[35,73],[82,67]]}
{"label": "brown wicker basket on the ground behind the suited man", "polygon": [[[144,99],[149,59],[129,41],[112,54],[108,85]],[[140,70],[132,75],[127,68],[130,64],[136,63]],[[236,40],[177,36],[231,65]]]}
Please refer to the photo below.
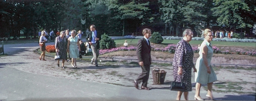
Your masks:
{"label": "brown wicker basket on the ground behind the suited man", "polygon": [[[158,70],[156,70],[158,69]],[[159,70],[159,68],[154,68],[152,71],[153,84],[164,84],[166,72],[164,70]]]}

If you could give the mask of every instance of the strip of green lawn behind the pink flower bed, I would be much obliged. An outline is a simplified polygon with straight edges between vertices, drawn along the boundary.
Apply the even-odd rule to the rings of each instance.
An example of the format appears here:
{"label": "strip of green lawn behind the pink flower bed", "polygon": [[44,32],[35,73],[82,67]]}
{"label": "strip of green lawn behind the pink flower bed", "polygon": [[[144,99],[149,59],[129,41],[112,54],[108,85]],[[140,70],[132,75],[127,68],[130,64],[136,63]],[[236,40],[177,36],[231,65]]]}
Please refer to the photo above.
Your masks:
{"label": "strip of green lawn behind the pink flower bed", "polygon": [[[127,43],[129,45],[136,46],[139,39],[116,39],[114,40],[116,42],[117,46],[122,46],[124,44],[124,41],[127,40]],[[162,44],[168,45],[168,44],[177,44],[180,40],[169,40],[164,39]],[[203,40],[192,40],[189,42],[189,44],[198,45],[202,44]],[[247,46],[247,47],[256,47],[256,43],[245,43],[245,42],[227,42],[227,41],[211,41],[213,46]]]}

